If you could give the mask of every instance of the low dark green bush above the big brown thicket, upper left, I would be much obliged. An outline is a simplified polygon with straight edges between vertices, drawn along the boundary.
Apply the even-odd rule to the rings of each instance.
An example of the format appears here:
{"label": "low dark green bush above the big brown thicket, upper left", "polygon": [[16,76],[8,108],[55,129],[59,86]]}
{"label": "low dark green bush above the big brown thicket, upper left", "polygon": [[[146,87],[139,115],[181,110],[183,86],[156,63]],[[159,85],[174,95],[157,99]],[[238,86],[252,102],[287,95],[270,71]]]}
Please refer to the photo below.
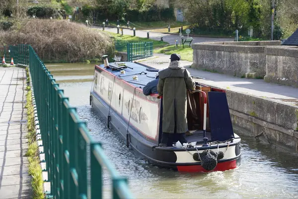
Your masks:
{"label": "low dark green bush above the big brown thicket, upper left", "polygon": [[37,16],[38,18],[60,18],[62,12],[59,9],[45,6],[32,6],[28,7],[27,14],[29,16]]}

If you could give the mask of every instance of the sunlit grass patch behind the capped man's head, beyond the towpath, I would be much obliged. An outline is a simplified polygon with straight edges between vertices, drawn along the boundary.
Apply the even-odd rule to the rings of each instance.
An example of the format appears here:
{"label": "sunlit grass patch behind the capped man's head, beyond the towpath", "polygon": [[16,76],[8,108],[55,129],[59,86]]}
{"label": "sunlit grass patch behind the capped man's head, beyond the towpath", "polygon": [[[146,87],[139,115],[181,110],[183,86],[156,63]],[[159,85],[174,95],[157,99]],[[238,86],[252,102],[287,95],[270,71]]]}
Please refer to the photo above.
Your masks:
{"label": "sunlit grass patch behind the capped man's head, beyond the towpath", "polygon": [[171,45],[171,46],[167,46],[164,48],[155,49],[153,52],[154,53],[164,53],[166,55],[170,55],[172,53],[177,53],[181,56],[181,60],[185,60],[185,61],[189,61],[189,62],[193,61],[193,49],[189,48],[189,47],[180,49],[180,46],[178,46],[177,49],[175,49],[175,45]]}

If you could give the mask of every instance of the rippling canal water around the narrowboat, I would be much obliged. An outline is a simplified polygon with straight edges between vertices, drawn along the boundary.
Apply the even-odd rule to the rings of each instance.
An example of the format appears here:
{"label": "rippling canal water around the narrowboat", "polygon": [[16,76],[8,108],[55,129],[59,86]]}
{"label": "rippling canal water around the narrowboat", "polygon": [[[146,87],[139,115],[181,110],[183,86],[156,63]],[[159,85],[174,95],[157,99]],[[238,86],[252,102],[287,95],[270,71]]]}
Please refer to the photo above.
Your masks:
{"label": "rippling canal water around the narrowboat", "polygon": [[[138,199],[200,198],[298,198],[298,156],[245,136],[241,136],[241,166],[235,170],[212,173],[181,173],[159,169],[126,148],[118,133],[107,129],[89,105],[94,64],[47,64],[70,103],[87,121],[92,136],[102,142],[114,168],[128,177]],[[246,135],[249,132],[245,133]],[[104,198],[110,198],[111,182],[104,171]]]}

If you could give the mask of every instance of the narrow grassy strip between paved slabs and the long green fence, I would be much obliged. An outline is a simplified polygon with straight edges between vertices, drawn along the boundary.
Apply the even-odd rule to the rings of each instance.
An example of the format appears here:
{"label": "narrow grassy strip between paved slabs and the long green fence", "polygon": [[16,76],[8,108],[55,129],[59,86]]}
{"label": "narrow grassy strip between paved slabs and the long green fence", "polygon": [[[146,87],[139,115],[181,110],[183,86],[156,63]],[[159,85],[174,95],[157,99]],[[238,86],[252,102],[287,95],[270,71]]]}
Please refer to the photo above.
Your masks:
{"label": "narrow grassy strip between paved slabs and the long green fence", "polygon": [[[29,77],[28,68],[26,68],[26,75]],[[27,78],[27,85],[29,84],[30,79]],[[40,160],[38,157],[38,146],[36,142],[36,132],[35,132],[35,124],[34,124],[34,108],[32,105],[32,96],[30,87],[26,87],[27,95],[27,103],[25,108],[27,108],[27,127],[28,133],[26,138],[28,139],[28,150],[25,156],[28,157],[29,167],[28,173],[32,176],[31,186],[33,190],[33,199],[43,199],[43,180],[42,180],[42,170],[39,165]]]}

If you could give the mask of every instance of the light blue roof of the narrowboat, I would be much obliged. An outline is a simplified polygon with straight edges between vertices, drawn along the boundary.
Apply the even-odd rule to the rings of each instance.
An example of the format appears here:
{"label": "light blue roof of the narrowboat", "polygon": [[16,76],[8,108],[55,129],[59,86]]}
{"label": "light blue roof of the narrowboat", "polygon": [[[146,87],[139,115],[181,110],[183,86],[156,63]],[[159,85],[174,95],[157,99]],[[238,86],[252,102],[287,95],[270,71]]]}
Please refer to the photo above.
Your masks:
{"label": "light blue roof of the narrowboat", "polygon": [[[143,65],[141,63],[134,62],[112,62],[109,63],[111,67],[118,67],[119,63],[125,63],[127,67],[125,69],[113,70],[112,68],[104,68],[104,64],[99,67],[104,68],[109,73],[121,78],[122,80],[132,84],[135,87],[145,87],[150,81],[155,80],[155,75],[158,69]],[[125,74],[121,74],[121,70],[125,71]],[[134,76],[138,76],[138,80],[133,80]]]}

